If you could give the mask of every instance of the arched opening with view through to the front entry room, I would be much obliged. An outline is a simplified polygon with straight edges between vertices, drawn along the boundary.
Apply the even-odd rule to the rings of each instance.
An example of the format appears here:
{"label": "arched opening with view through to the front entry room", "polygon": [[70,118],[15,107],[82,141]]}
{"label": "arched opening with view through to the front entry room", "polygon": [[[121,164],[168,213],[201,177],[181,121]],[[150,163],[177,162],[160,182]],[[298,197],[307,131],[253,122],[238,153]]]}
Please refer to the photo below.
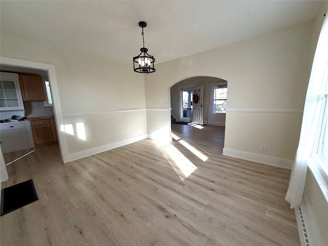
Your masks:
{"label": "arched opening with view through to the front entry room", "polygon": [[[199,147],[209,152],[222,153],[226,125],[228,82],[225,79],[210,76],[195,76],[178,81],[169,88],[171,101],[171,131],[182,134],[184,139],[193,141],[195,135],[200,139]],[[201,92],[201,94],[200,94]],[[193,101],[197,93],[199,101]],[[196,107],[201,108],[201,121],[197,121]],[[175,119],[175,120],[174,120]],[[201,130],[201,131],[200,131]],[[210,136],[211,135],[211,136]],[[210,147],[210,146],[213,146]],[[205,147],[206,146],[206,147]]]}

